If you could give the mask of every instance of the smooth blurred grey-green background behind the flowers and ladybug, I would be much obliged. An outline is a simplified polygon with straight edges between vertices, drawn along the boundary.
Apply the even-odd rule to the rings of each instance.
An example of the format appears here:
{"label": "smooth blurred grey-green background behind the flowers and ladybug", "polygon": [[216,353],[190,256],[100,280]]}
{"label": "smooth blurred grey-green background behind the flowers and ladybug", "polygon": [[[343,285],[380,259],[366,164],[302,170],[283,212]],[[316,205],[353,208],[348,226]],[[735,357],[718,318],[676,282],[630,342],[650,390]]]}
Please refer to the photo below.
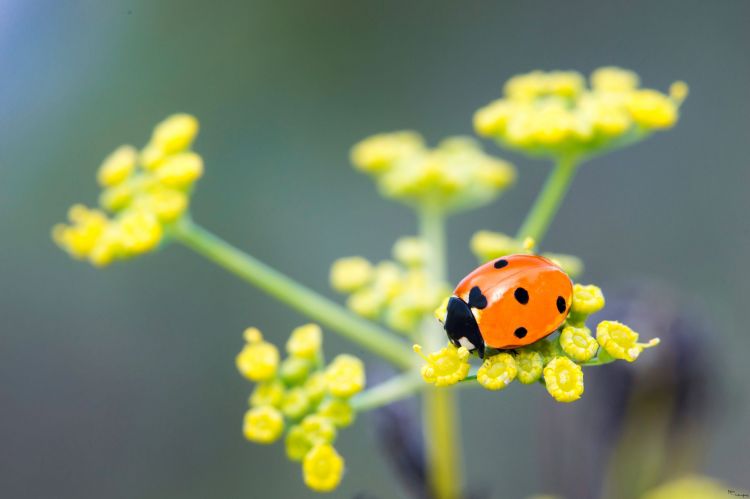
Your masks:
{"label": "smooth blurred grey-green background behind the flowers and ladybug", "polygon": [[[242,438],[250,385],[234,367],[245,327],[278,343],[305,318],[182,247],[95,270],[51,242],[69,205],[95,203],[116,146],[195,114],[207,166],[196,221],[334,297],[334,259],[386,258],[415,232],[351,169],[353,143],[471,134],[508,77],[610,64],[647,87],[688,82],[682,119],[585,165],[544,247],[583,258],[611,315],[674,338],[659,348],[671,360],[588,371],[580,405],[541,386],[463,391],[468,483],[481,496],[596,497],[629,469],[600,470],[596,456],[648,461],[620,436],[676,428],[688,469],[750,487],[749,18],[741,0],[0,0],[0,495],[313,496],[282,445]],[[515,231],[549,169],[485,145],[519,181],[451,219],[453,280],[476,263],[470,236]],[[326,345],[362,353],[333,335]],[[342,432],[334,496],[406,496],[375,427],[365,415]],[[666,449],[662,463],[685,456]],[[583,469],[566,475],[571,462]]]}

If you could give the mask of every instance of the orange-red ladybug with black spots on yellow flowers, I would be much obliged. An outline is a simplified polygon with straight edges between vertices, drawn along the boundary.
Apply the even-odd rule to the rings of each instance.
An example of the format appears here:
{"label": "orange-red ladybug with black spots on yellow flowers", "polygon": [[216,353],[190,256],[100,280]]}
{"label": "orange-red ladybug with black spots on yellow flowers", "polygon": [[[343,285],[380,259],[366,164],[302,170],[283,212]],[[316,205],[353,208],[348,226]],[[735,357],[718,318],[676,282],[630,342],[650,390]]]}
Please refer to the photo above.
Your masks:
{"label": "orange-red ladybug with black spots on yellow flowers", "polygon": [[477,351],[511,350],[552,334],[573,301],[570,277],[537,255],[508,255],[474,269],[448,300],[451,343]]}

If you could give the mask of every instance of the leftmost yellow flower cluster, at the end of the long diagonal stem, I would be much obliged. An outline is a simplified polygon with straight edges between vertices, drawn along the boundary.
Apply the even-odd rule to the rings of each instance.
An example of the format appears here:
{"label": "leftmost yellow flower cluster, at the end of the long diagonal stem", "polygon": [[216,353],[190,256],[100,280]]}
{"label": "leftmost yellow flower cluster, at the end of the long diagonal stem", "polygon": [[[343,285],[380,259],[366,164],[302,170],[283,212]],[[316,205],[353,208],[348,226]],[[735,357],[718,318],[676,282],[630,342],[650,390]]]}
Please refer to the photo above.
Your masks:
{"label": "leftmost yellow flower cluster, at the end of the long diagonal stem", "polygon": [[197,134],[193,116],[175,114],[154,128],[142,150],[117,148],[99,167],[100,208],[74,205],[69,223],[53,228],[55,242],[96,266],[156,248],[203,174],[203,160],[190,150]]}

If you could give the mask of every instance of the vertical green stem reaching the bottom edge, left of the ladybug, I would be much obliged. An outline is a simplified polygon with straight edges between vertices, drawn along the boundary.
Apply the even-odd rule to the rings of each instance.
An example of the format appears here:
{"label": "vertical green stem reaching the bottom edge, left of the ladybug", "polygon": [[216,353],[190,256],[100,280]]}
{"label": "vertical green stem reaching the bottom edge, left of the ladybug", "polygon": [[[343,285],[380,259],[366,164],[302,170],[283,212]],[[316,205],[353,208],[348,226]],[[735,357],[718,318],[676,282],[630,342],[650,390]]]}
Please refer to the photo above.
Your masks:
{"label": "vertical green stem reaching the bottom edge, left of the ladybug", "polygon": [[[430,285],[441,286],[446,280],[445,214],[439,207],[424,206],[418,212],[419,232],[427,243],[429,254],[427,273]],[[422,342],[429,351],[438,350],[445,343],[445,333],[432,317],[426,318]],[[463,488],[460,428],[455,393],[434,387],[424,389],[422,421],[427,456],[428,480],[433,496],[438,499],[457,499]]]}

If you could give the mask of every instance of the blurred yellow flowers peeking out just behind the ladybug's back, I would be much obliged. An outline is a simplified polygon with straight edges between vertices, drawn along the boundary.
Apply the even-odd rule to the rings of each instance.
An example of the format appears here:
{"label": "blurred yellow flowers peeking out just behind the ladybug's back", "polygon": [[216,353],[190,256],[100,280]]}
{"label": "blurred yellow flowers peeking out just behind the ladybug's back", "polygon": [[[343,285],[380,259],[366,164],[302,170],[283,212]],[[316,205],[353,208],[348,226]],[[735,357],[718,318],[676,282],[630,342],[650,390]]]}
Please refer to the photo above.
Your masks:
{"label": "blurred yellow flowers peeking out just behind the ladybug's back", "polygon": [[[485,263],[507,255],[533,254],[533,244],[526,243],[502,232],[480,230],[472,236],[470,247],[479,262]],[[541,253],[540,255],[552,260],[572,278],[583,273],[583,262],[577,256],[561,253]]]}

